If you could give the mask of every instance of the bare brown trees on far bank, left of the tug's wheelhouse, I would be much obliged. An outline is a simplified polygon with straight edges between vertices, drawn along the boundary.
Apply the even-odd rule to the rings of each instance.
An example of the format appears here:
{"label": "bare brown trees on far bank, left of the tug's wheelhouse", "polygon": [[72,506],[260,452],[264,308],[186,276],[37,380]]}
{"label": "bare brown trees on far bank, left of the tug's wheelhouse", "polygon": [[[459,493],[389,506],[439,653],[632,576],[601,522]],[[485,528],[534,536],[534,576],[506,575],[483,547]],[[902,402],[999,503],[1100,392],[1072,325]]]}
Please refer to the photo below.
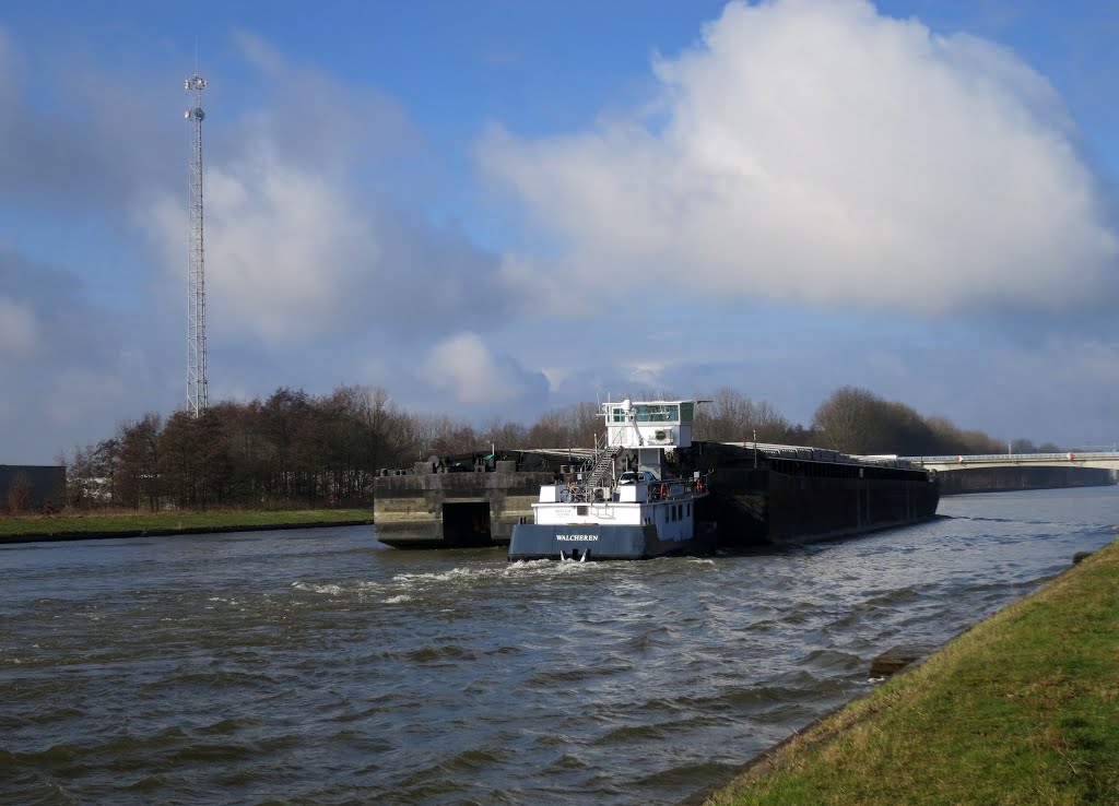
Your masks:
{"label": "bare brown trees on far bank, left of the tug's wheelhouse", "polygon": [[60,457],[67,505],[190,510],[361,506],[380,468],[497,445],[593,445],[591,405],[554,409],[532,428],[493,420],[474,428],[445,415],[403,411],[384,389],[329,395],[281,388],[266,400],[225,401],[200,417],[148,413],[114,435]]}

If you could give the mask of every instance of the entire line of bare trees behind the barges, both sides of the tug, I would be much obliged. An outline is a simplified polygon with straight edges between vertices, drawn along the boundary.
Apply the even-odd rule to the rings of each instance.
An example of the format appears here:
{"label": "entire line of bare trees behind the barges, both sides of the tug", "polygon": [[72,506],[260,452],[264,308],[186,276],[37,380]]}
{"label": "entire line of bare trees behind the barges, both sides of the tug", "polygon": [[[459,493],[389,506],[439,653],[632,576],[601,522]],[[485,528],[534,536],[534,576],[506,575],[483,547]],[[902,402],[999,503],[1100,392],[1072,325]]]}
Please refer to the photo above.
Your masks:
{"label": "entire line of bare trees behind the barges, both sides of the tug", "polygon": [[[696,439],[908,456],[1004,453],[1007,447],[981,432],[961,430],[853,387],[833,392],[808,427],[733,389],[698,397],[709,402],[696,409]],[[602,430],[594,404],[551,409],[527,427],[504,419],[474,427],[445,415],[404,411],[379,388],[344,386],[322,396],[280,388],[266,400],[220,402],[197,418],[186,411],[166,419],[145,414],[62,462],[67,505],[78,510],[361,506],[372,502],[380,468],[491,446],[592,447]],[[1025,440],[1016,443],[1017,453],[1032,449]]]}

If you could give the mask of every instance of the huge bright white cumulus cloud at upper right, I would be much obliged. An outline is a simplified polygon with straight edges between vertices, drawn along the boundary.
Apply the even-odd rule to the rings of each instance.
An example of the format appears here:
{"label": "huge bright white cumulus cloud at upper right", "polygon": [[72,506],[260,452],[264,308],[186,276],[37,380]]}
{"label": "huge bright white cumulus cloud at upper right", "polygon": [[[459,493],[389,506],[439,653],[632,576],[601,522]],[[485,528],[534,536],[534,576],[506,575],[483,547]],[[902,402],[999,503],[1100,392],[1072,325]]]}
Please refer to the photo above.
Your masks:
{"label": "huge bright white cumulus cloud at upper right", "polygon": [[568,306],[668,285],[930,317],[1119,300],[1075,126],[1005,48],[865,0],[732,2],[653,72],[640,113],[483,136],[487,176],[563,245],[509,255],[510,282]]}

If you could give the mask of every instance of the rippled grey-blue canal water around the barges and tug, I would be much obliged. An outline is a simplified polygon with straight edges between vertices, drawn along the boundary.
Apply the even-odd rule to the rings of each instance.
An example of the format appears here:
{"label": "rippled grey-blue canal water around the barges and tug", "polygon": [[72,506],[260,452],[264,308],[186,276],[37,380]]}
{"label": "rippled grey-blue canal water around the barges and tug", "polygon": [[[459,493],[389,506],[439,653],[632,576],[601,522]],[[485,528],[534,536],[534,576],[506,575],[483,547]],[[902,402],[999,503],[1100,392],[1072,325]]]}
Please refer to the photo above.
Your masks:
{"label": "rippled grey-blue canal water around the barges and tug", "polygon": [[0,549],[0,802],[673,803],[1103,546],[1119,490],[713,559],[369,528]]}

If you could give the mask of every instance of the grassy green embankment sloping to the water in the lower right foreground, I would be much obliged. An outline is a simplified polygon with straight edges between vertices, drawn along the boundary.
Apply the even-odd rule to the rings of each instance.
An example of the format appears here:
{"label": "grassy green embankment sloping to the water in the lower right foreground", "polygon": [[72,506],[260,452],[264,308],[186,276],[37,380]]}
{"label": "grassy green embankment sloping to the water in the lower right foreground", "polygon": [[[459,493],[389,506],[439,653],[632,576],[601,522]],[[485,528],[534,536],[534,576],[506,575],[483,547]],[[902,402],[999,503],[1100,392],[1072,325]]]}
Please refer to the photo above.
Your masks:
{"label": "grassy green embankment sloping to the water in the lower right foreground", "polygon": [[1119,542],[707,803],[1119,804]]}

